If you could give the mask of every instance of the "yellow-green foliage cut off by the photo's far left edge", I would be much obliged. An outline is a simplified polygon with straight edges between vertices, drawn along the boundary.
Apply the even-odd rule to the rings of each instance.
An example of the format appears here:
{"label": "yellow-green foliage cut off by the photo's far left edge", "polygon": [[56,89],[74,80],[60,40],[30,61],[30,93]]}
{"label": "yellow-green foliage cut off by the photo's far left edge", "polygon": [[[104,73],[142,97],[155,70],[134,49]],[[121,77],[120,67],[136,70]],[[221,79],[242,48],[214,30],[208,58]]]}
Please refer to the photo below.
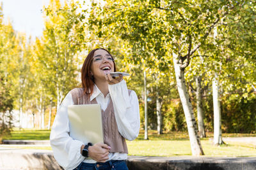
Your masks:
{"label": "yellow-green foliage cut off by the photo's far left edge", "polygon": [[0,138],[12,131],[12,110],[15,96],[12,95],[12,73],[9,71],[10,51],[13,49],[14,30],[12,25],[3,23],[0,6]]}

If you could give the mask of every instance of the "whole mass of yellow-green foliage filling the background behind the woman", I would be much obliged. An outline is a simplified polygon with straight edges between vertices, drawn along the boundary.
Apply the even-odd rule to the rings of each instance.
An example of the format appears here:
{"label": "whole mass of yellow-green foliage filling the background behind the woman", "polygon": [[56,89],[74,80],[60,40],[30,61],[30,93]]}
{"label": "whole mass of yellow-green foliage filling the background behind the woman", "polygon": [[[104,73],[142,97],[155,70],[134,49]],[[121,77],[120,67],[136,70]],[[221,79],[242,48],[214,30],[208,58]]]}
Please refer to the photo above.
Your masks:
{"label": "whole mass of yellow-green foliage filling the background behind the woman", "polygon": [[125,0],[93,1],[84,10],[74,1],[61,6],[51,0],[44,9],[43,36],[35,42],[3,24],[1,15],[0,104],[31,114],[48,113],[51,100],[58,106],[79,85],[79,69],[88,51],[103,47],[115,57],[119,71],[131,74],[125,81],[138,94],[141,122],[147,71],[150,128],[157,125],[158,93],[163,129],[185,131],[174,80],[175,52],[186,66],[193,106],[196,98],[190,89],[196,88],[195,76],[202,78],[206,131],[213,131],[211,81],[218,73],[223,131],[255,132],[255,6],[253,1]]}

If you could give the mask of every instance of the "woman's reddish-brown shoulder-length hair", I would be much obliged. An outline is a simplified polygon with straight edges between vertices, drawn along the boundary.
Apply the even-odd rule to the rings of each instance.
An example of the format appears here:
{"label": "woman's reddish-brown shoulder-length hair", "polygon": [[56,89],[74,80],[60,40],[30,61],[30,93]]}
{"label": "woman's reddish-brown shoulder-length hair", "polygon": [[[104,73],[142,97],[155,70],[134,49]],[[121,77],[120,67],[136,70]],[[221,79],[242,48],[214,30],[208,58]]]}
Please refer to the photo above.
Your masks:
{"label": "woman's reddish-brown shoulder-length hair", "polygon": [[[94,83],[95,83],[94,77],[91,74],[91,66],[92,66],[92,61],[93,61],[93,55],[96,50],[105,50],[106,52],[108,52],[108,50],[106,50],[104,48],[96,48],[96,49],[92,50],[90,53],[88,53],[86,59],[84,60],[83,67],[81,69],[81,80],[82,80],[82,87],[84,89],[84,93],[89,94],[89,96],[92,96],[93,87],[94,87]],[[112,57],[112,55],[111,55],[111,57]],[[113,61],[113,62],[114,62],[114,71],[116,71],[115,61]]]}

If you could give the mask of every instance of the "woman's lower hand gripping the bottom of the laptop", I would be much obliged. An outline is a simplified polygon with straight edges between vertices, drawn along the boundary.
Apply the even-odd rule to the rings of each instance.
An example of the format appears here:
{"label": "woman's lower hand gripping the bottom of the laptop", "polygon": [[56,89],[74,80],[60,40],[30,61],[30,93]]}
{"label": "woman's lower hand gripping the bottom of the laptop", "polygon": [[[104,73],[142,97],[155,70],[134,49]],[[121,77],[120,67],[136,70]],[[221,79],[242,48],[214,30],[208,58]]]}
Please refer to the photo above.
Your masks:
{"label": "woman's lower hand gripping the bottom of the laptop", "polygon": [[104,143],[96,143],[88,148],[88,157],[91,157],[97,162],[106,162],[108,160],[108,153],[111,149],[110,146]]}

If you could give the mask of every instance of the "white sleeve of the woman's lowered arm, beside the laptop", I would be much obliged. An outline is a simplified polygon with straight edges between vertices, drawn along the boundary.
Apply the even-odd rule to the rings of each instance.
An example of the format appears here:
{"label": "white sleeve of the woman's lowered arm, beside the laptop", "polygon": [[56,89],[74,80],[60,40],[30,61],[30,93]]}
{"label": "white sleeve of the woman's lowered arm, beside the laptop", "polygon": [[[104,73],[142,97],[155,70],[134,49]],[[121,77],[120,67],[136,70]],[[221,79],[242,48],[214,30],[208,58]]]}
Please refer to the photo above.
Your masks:
{"label": "white sleeve of the woman's lowered arm, beside the laptop", "polygon": [[83,142],[74,140],[68,135],[67,108],[68,105],[72,104],[72,96],[69,92],[57,111],[50,135],[54,158],[64,169],[74,169],[84,160],[84,157],[81,155]]}

